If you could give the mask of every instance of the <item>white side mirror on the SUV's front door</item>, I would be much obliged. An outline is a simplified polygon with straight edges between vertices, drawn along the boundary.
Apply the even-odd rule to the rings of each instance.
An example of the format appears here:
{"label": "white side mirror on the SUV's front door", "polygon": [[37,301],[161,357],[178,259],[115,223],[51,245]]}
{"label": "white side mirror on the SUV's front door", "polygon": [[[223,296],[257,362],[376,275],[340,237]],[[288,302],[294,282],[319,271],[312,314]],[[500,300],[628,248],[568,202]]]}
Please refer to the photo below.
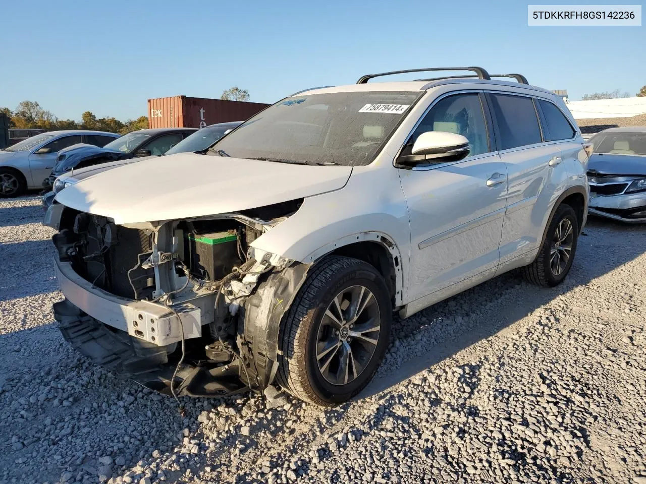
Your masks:
{"label": "white side mirror on the SUV's front door", "polygon": [[417,137],[411,154],[400,156],[397,161],[408,166],[446,163],[460,161],[469,154],[469,151],[469,140],[461,134],[427,131]]}

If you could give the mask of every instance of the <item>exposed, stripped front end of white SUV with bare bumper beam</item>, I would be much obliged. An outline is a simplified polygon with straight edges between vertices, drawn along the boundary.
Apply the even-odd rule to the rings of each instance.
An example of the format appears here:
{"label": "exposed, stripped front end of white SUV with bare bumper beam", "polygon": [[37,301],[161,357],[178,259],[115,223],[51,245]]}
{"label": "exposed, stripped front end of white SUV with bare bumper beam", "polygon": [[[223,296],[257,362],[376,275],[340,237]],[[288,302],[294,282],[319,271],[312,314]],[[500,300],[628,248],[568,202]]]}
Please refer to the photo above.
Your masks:
{"label": "exposed, stripped front end of white SUV with bare bumper beam", "polygon": [[251,244],[300,203],[127,225],[53,205],[45,223],[59,230],[54,263],[65,300],[54,314],[63,336],[161,393],[266,387],[277,368],[280,320],[309,265]]}

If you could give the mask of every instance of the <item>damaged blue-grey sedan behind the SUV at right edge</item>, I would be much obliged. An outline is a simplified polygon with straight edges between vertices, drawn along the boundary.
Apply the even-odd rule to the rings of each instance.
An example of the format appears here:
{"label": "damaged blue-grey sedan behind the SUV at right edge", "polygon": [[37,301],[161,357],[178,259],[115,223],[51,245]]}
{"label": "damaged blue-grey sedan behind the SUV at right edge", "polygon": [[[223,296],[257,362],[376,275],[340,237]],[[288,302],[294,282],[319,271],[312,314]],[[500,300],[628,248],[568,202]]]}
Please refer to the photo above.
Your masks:
{"label": "damaged blue-grey sedan behind the SUV at right edge", "polygon": [[590,214],[646,222],[646,126],[611,128],[592,138]]}

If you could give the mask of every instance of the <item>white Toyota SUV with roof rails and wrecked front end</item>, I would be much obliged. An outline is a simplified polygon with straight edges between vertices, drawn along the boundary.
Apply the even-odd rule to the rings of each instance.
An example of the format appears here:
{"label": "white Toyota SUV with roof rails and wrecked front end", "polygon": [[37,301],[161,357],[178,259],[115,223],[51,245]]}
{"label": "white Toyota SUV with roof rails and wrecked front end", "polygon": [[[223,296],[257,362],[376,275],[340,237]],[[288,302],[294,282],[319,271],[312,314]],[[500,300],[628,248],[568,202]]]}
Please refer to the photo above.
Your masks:
{"label": "white Toyota SUV with roof rails and wrecked front end", "polygon": [[525,77],[459,70],[475,76],[298,92],[205,152],[61,190],[45,220],[65,338],[174,396],[278,383],[331,405],[370,381],[393,312],[519,267],[561,283],[587,214],[581,133]]}

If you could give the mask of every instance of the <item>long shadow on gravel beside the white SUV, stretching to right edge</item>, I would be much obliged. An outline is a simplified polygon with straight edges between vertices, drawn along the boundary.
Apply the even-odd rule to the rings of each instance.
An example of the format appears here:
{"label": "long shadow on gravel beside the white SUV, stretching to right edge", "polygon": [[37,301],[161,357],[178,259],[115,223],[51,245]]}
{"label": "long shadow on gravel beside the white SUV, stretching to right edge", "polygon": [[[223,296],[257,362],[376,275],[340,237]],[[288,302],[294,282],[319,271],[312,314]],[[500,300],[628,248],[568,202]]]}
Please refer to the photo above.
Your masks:
{"label": "long shadow on gravel beside the white SUV, stretching to right edge", "polygon": [[[646,224],[626,225],[593,218],[589,220],[583,233],[584,235],[579,237],[570,274],[558,287],[538,288],[523,281],[518,272],[512,271],[441,301],[411,318],[395,318],[391,336],[395,345],[397,339],[413,338],[415,332],[425,325],[428,327],[425,328],[424,337],[436,343],[426,354],[402,361],[401,366],[393,372],[375,376],[355,400],[369,398],[401,383],[516,323],[557,296],[587,285],[592,279],[603,276],[646,252]],[[590,237],[591,233],[594,237]],[[634,239],[634,243],[625,240],[618,248],[618,237]],[[590,239],[594,239],[594,244]],[[499,299],[499,296],[510,290],[516,292],[516,297]],[[452,318],[459,318],[461,321],[472,319],[472,315],[466,312],[468,309],[465,308],[477,308],[478,314],[473,318],[475,323],[457,335],[455,332],[451,334],[447,331],[447,325],[452,322]],[[442,320],[437,321],[438,319]]]}

